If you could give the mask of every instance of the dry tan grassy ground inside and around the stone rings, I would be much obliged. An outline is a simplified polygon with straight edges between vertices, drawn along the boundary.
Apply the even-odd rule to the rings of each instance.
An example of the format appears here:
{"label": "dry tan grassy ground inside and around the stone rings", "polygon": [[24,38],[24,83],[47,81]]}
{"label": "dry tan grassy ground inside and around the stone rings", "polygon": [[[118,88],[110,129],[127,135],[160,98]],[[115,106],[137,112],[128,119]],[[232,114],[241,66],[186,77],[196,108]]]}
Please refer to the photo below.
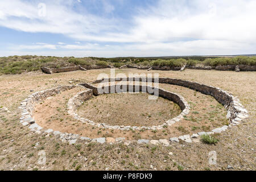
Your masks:
{"label": "dry tan grassy ground inside and around the stone rings", "polygon": [[[170,146],[124,143],[99,144],[78,141],[61,142],[53,135],[32,133],[19,123],[20,102],[30,94],[60,85],[92,82],[99,73],[110,69],[92,69],[46,75],[40,71],[21,75],[0,76],[0,107],[10,112],[0,113],[1,170],[255,170],[255,72],[204,71],[143,71],[116,69],[116,73],[159,73],[159,77],[181,78],[222,88],[237,96],[249,112],[249,118],[238,126],[215,134],[214,144],[171,143]],[[71,83],[72,82],[72,83]],[[67,114],[69,98],[82,88],[57,94],[39,103],[34,111],[43,127],[86,137],[125,137],[127,139],[160,139],[200,131],[210,131],[225,125],[226,110],[213,97],[181,86],[159,84],[160,88],[180,94],[191,111],[179,123],[158,131],[112,131],[82,124]],[[134,112],[136,110],[136,112]],[[79,114],[93,121],[111,125],[157,125],[180,113],[171,101],[159,98],[147,100],[147,94],[106,94],[93,97],[82,105]],[[137,114],[137,115],[136,115]],[[111,119],[112,118],[112,119]],[[39,151],[46,152],[46,164],[38,164]],[[217,164],[209,164],[209,152],[216,151]]]}

